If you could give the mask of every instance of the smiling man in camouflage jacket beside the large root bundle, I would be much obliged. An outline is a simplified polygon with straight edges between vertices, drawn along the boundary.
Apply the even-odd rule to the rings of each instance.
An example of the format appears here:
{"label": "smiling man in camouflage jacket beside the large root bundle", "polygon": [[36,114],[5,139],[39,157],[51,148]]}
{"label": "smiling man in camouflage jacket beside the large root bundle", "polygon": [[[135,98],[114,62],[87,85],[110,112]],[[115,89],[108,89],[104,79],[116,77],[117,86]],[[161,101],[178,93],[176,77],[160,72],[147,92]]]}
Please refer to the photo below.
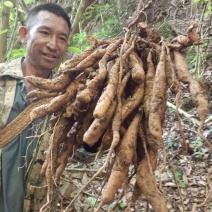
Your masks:
{"label": "smiling man in camouflage jacket beside the large root bundle", "polygon": [[[66,54],[70,28],[67,13],[56,4],[39,5],[29,12],[26,26],[19,29],[26,57],[0,66],[0,129],[30,104],[25,96],[35,88],[24,77],[52,76]],[[41,134],[46,126],[44,120],[36,120],[0,149],[0,212],[39,211],[45,204],[40,169],[49,135],[33,135]]]}

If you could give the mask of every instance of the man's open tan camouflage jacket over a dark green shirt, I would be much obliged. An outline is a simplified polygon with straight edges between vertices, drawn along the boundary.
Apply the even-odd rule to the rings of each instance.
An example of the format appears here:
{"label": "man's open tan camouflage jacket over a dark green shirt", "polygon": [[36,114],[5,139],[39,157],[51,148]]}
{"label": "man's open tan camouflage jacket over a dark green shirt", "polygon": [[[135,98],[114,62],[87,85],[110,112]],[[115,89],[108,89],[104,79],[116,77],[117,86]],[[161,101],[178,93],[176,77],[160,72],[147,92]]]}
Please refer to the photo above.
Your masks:
{"label": "man's open tan camouflage jacket over a dark green shirt", "polygon": [[[9,64],[0,64],[0,129],[3,128],[8,120],[8,117],[13,106],[13,101],[16,92],[17,79],[22,79],[21,59],[16,59]],[[40,175],[42,164],[45,160],[44,151],[49,146],[50,133],[47,130],[48,120],[44,121],[42,135],[34,151],[33,160],[28,166],[25,176],[26,188],[24,199],[24,211],[39,211],[46,202],[46,182],[45,177]],[[1,164],[1,149],[0,149],[0,164]],[[1,166],[0,166],[1,173]],[[1,179],[0,179],[1,180]],[[54,208],[53,211],[56,211]]]}

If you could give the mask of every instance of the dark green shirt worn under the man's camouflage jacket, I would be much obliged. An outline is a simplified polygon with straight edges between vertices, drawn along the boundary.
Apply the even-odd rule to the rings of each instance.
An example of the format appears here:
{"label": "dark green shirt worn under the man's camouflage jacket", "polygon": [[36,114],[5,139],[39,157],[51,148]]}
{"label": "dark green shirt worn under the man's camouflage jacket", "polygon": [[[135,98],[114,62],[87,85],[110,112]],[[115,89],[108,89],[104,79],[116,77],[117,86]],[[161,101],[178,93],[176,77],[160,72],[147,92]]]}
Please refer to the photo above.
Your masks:
{"label": "dark green shirt worn under the man's camouflage jacket", "polygon": [[[25,100],[26,94],[27,91],[23,79],[17,79],[16,95],[7,123],[18,116],[29,104]],[[32,136],[39,134],[40,128],[41,120],[36,120],[2,148],[0,212],[23,211],[25,195],[24,176],[37,143],[37,138]]]}

